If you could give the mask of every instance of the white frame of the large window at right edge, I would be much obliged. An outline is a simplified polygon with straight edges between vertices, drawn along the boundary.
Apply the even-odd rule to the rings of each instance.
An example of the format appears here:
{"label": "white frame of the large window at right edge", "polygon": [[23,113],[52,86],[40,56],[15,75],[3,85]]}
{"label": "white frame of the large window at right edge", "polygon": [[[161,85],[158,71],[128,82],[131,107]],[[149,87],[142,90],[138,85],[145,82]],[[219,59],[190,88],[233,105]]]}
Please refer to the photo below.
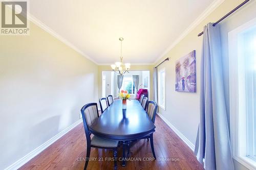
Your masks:
{"label": "white frame of the large window at right edge", "polygon": [[[248,169],[256,169],[256,161],[247,156],[246,93],[244,60],[239,50],[239,34],[256,25],[256,18],[228,33],[229,46],[229,115],[233,159]],[[234,50],[237,49],[237,50]]]}

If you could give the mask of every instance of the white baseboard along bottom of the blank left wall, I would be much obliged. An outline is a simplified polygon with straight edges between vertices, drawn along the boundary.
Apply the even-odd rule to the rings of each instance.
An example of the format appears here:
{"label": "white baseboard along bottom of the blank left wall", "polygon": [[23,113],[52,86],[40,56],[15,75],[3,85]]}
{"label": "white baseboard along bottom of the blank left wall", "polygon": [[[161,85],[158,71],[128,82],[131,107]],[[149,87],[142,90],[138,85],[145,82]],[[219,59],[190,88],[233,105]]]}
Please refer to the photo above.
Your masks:
{"label": "white baseboard along bottom of the blank left wall", "polygon": [[41,144],[39,147],[37,147],[35,150],[33,150],[32,152],[28,153],[27,155],[25,155],[23,158],[17,160],[16,162],[14,162],[13,164],[11,164],[10,166],[8,166],[7,168],[5,168],[5,170],[16,170],[20,167],[22,167],[25,163],[27,163],[28,161],[30,161],[32,158],[34,158],[36,155],[38,155],[40,152],[44,151],[47,147],[49,147],[52,143],[54,143],[56,140],[58,140],[59,138],[61,138],[63,135],[65,135],[66,133],[68,133],[70,130],[72,130],[73,128],[75,128],[78,124],[80,124],[82,122],[82,119],[79,119],[77,122],[75,122],[74,124],[72,124],[71,126],[69,126],[68,128],[66,128],[65,130],[59,132],[57,135],[55,135],[54,137],[52,137],[51,139],[49,139],[48,141],[46,141],[45,143]]}

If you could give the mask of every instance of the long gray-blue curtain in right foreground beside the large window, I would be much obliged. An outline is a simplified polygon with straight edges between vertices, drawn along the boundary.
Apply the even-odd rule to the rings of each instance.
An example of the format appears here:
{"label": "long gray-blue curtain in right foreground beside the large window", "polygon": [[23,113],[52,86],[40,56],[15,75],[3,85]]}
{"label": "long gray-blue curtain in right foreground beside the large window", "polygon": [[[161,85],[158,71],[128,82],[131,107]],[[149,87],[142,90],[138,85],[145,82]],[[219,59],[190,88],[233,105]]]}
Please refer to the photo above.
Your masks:
{"label": "long gray-blue curtain in right foreground beside the large window", "polygon": [[206,170],[232,170],[218,25],[213,27],[208,23],[203,35],[200,123],[195,155]]}

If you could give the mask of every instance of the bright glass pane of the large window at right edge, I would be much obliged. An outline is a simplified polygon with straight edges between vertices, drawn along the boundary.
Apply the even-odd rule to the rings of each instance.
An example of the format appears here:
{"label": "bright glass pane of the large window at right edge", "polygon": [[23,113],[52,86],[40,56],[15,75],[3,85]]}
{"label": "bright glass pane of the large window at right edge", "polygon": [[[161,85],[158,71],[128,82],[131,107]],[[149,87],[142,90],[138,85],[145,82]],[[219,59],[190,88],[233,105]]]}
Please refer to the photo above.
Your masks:
{"label": "bright glass pane of the large window at right edge", "polygon": [[243,33],[248,156],[256,161],[256,27]]}

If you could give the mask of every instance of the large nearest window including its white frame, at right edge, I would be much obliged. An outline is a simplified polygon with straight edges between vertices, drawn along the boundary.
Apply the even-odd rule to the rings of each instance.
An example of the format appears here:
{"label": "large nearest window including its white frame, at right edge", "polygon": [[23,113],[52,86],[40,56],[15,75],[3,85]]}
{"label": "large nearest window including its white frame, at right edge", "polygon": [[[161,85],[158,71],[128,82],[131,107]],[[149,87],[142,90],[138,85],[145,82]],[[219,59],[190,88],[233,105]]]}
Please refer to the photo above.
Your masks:
{"label": "large nearest window including its white frame, at right edge", "polygon": [[[233,158],[256,168],[256,19],[229,33],[229,105]],[[237,49],[237,50],[234,50]]]}

